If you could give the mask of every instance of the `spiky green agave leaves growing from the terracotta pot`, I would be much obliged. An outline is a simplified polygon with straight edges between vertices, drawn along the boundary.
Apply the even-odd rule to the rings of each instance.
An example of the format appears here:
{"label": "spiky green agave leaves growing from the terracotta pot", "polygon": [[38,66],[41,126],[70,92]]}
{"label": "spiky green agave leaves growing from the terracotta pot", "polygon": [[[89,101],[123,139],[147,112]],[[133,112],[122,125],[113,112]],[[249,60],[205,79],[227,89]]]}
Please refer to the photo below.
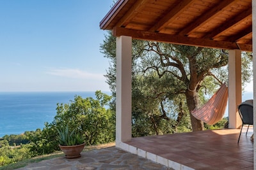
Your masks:
{"label": "spiky green agave leaves growing from the terracotta pot", "polygon": [[73,146],[84,143],[83,136],[81,136],[80,134],[76,134],[76,128],[70,131],[68,125],[66,125],[65,127],[57,129],[57,131],[59,134],[58,141],[60,142],[60,145]]}

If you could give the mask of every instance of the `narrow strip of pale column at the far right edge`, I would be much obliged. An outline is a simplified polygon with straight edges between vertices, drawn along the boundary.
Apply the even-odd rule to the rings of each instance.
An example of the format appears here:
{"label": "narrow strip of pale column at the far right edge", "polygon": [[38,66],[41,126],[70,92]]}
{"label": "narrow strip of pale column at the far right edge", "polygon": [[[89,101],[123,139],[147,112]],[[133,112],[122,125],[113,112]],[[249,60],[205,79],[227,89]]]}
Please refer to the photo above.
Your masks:
{"label": "narrow strip of pale column at the far right edge", "polygon": [[[254,138],[254,134],[256,132],[256,1],[252,0],[252,52],[253,52],[253,139]],[[256,169],[256,142],[253,143],[253,164],[254,164],[254,168]]]}

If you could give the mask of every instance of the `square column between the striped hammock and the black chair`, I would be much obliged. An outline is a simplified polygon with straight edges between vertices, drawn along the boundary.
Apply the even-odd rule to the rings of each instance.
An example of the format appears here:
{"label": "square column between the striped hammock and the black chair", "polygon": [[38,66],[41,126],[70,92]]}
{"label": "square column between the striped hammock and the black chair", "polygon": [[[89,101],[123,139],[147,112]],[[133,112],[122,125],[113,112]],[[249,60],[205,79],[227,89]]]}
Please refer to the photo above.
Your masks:
{"label": "square column between the striped hammock and the black chair", "polygon": [[242,102],[241,50],[229,50],[228,56],[228,127],[236,129],[242,125],[237,110]]}

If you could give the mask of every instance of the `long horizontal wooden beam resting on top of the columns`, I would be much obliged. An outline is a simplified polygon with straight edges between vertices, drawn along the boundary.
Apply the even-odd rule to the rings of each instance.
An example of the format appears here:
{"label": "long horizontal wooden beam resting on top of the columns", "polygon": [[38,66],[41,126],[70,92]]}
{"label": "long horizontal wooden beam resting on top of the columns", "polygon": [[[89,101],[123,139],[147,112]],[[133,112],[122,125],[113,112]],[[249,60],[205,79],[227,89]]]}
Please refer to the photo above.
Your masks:
{"label": "long horizontal wooden beam resting on top of the columns", "polygon": [[243,51],[252,52],[252,45],[243,45],[228,41],[214,41],[211,39],[189,38],[187,36],[163,34],[159,32],[138,31],[114,27],[112,30],[113,36],[131,36],[133,39],[143,39],[148,41],[161,41],[164,43],[173,43],[179,45],[203,46],[209,48],[221,48],[227,50],[240,49]]}

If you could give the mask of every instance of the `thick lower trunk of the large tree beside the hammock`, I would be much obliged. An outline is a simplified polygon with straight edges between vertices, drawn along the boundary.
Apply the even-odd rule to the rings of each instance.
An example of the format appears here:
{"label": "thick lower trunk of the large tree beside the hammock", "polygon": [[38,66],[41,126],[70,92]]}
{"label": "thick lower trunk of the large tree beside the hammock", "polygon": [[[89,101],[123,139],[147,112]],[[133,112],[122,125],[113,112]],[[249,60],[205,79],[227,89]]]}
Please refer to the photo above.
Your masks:
{"label": "thick lower trunk of the large tree beside the hammock", "polygon": [[198,106],[198,96],[194,91],[187,91],[186,98],[188,103],[189,115],[192,125],[192,131],[204,131],[204,122],[196,119],[191,113]]}

